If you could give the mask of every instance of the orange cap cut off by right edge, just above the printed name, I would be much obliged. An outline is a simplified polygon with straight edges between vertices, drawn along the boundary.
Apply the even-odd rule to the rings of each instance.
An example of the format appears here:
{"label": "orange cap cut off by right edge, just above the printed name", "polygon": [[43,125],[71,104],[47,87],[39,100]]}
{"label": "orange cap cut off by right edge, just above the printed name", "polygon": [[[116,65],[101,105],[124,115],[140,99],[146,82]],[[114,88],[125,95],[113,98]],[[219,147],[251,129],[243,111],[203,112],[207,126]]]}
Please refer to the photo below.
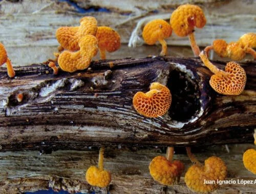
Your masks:
{"label": "orange cap cut off by right edge, just above the printed name", "polygon": [[246,150],[243,154],[243,162],[246,169],[256,175],[256,150]]}

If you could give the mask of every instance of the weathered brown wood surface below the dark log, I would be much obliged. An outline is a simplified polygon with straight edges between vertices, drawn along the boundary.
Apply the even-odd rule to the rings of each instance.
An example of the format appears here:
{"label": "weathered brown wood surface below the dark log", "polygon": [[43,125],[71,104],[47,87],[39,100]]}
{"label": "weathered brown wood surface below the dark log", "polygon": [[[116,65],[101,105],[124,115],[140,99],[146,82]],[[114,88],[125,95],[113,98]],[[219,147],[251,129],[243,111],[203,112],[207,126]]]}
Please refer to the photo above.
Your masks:
{"label": "weathered brown wood surface below the dark log", "polygon": [[[230,147],[227,153],[224,146],[193,149],[200,161],[217,155],[227,164],[227,180],[255,180],[255,175],[243,166],[242,152],[251,147],[244,144]],[[184,175],[191,165],[184,154],[185,149],[176,149],[174,159],[185,164],[179,184],[163,186],[155,182],[148,171],[150,161],[157,155],[164,155],[164,149],[107,148],[104,167],[112,173],[112,181],[107,189],[91,187],[84,179],[90,165],[97,165],[98,151],[57,151],[40,155],[39,152],[0,152],[0,192],[22,193],[52,187],[69,192],[95,191],[97,193],[193,193],[184,183]],[[199,153],[198,153],[199,152]],[[213,193],[253,193],[256,184],[222,185]]]}

